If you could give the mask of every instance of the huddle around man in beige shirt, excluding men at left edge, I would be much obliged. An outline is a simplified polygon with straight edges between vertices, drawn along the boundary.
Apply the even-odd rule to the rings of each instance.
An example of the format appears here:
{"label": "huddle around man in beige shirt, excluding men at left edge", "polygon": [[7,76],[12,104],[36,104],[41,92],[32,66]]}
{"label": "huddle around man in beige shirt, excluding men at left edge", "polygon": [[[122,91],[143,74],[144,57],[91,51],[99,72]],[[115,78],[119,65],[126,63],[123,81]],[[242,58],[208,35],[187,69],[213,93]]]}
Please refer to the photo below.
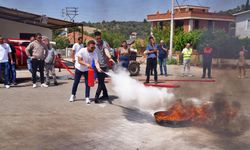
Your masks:
{"label": "huddle around man in beige shirt, excluding men at left edge", "polygon": [[[56,62],[56,50],[50,44],[50,40],[46,36],[42,36],[40,33],[35,34],[35,37],[31,37],[30,44],[25,49],[27,59],[27,66],[32,74],[33,88],[37,87],[37,71],[40,73],[41,87],[48,87],[50,85],[51,73],[53,76],[54,85],[57,85],[55,74],[55,62]],[[44,70],[46,80],[44,77]]]}

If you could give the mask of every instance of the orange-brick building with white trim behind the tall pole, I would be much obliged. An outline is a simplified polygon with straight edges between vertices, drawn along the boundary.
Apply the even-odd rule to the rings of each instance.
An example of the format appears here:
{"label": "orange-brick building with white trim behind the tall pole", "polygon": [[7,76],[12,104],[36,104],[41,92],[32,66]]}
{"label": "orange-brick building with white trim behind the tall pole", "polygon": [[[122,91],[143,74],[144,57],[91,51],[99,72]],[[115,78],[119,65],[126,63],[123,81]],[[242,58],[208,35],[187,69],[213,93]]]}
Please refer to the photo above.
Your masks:
{"label": "orange-brick building with white trim behind the tall pole", "polygon": [[[155,13],[147,15],[147,20],[152,23],[152,27],[161,27],[170,24],[171,12]],[[184,32],[193,29],[222,29],[230,31],[230,26],[234,24],[233,15],[209,12],[209,7],[184,5],[174,7],[174,25],[183,27]]]}

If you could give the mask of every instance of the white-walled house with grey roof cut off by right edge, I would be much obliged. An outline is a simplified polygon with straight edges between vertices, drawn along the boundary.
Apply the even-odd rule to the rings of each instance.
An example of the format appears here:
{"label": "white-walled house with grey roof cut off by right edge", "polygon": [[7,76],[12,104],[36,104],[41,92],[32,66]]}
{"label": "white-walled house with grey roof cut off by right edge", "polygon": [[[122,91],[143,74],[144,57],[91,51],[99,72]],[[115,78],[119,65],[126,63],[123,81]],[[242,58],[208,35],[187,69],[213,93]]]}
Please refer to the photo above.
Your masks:
{"label": "white-walled house with grey roof cut off by right edge", "polygon": [[250,29],[247,29],[247,20],[250,19],[250,12],[236,16],[235,35],[240,38],[249,37]]}

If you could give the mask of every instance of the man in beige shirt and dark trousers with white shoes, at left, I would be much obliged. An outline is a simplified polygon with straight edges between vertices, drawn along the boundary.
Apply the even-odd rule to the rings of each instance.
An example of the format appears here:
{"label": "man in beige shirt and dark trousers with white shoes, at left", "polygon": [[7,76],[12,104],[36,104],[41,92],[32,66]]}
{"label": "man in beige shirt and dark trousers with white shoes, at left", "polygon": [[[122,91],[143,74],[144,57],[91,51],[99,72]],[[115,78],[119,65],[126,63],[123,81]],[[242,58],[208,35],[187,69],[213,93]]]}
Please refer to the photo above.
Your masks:
{"label": "man in beige shirt and dark trousers with white shoes, at left", "polygon": [[35,35],[35,39],[36,40],[31,42],[25,50],[27,56],[31,58],[33,88],[37,87],[36,72],[38,68],[40,72],[41,87],[48,87],[48,85],[44,83],[44,59],[48,54],[48,49],[42,42],[42,35],[40,33]]}

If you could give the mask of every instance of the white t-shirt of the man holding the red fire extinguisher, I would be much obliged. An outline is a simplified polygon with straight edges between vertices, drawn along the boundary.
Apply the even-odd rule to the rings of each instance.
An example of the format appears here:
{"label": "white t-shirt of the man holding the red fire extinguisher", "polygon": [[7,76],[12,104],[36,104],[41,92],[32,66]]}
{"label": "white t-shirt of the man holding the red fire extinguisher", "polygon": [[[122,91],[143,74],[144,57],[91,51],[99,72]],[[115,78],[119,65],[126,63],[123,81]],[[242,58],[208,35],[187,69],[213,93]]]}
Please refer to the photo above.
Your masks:
{"label": "white t-shirt of the man holding the red fire extinguisher", "polygon": [[82,71],[82,72],[88,71],[88,67],[85,65],[79,64],[78,57],[81,57],[84,62],[90,64],[91,66],[92,66],[93,60],[95,60],[95,61],[98,60],[98,57],[97,57],[97,54],[95,51],[90,53],[90,52],[88,52],[87,47],[80,49],[80,51],[77,53],[75,68]]}

